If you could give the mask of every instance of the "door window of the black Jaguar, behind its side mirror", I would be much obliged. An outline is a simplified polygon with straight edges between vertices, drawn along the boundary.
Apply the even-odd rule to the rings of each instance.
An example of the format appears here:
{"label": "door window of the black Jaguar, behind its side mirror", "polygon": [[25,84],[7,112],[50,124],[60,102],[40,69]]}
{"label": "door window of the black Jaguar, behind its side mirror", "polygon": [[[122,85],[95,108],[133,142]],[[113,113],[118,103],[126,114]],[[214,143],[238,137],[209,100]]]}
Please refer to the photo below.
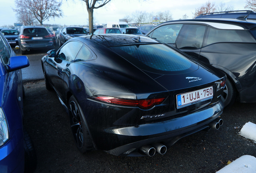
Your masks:
{"label": "door window of the black Jaguar, behind its side mirror", "polygon": [[60,58],[61,60],[66,60],[68,62],[74,62],[74,59],[76,58],[76,55],[82,46],[83,44],[80,42],[68,42],[58,52],[58,58]]}

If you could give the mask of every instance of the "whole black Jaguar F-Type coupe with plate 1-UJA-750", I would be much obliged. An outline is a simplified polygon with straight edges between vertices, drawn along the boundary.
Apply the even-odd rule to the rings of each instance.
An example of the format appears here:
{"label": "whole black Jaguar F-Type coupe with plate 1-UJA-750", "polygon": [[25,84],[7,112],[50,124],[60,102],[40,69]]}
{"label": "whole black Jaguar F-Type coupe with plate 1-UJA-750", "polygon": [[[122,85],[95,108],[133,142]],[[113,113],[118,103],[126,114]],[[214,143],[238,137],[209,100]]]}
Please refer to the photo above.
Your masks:
{"label": "whole black Jaguar F-Type coupe with plate 1-UJA-750", "polygon": [[41,62],[81,152],[164,154],[182,137],[223,123],[225,74],[151,38],[76,37]]}

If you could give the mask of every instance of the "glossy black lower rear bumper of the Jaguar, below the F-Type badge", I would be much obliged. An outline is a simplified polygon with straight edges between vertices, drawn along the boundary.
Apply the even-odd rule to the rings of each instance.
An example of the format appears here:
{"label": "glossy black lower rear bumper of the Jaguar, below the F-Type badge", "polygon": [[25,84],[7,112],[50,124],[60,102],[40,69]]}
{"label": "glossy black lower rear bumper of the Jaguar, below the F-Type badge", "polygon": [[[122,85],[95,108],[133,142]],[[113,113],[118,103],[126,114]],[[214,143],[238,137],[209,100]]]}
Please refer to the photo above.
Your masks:
{"label": "glossy black lower rear bumper of the Jaguar, below the F-Type badge", "polygon": [[[148,123],[133,127],[108,128],[104,133],[94,137],[94,142],[107,153],[120,156],[142,156],[139,149],[145,145],[162,143],[167,147],[179,139],[209,129],[209,123],[214,121],[223,111],[222,102],[209,105],[207,109],[192,114],[169,119],[158,123]],[[104,141],[104,142],[103,142]],[[101,143],[101,144],[100,144]],[[118,146],[106,150],[104,146]]]}

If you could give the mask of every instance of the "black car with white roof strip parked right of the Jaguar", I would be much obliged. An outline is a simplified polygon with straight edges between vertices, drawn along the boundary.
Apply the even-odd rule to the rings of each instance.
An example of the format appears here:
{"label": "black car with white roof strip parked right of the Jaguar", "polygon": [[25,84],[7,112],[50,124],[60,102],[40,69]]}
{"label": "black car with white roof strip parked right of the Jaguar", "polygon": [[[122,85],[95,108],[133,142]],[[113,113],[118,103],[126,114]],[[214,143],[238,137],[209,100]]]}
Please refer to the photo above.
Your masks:
{"label": "black car with white roof strip parked right of the Jaguar", "polygon": [[191,19],[164,22],[146,34],[194,59],[222,70],[227,81],[225,106],[256,102],[256,22],[238,19]]}

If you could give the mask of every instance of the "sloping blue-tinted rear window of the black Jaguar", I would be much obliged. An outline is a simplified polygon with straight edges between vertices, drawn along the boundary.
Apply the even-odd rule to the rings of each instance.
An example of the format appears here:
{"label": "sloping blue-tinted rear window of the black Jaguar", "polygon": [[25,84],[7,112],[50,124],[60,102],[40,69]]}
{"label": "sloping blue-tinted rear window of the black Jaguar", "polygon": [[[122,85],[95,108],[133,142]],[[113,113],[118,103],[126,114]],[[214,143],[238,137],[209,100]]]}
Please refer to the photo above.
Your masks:
{"label": "sloping blue-tinted rear window of the black Jaguar", "polygon": [[179,74],[196,70],[198,65],[164,44],[140,44],[110,47],[142,70],[159,74]]}

